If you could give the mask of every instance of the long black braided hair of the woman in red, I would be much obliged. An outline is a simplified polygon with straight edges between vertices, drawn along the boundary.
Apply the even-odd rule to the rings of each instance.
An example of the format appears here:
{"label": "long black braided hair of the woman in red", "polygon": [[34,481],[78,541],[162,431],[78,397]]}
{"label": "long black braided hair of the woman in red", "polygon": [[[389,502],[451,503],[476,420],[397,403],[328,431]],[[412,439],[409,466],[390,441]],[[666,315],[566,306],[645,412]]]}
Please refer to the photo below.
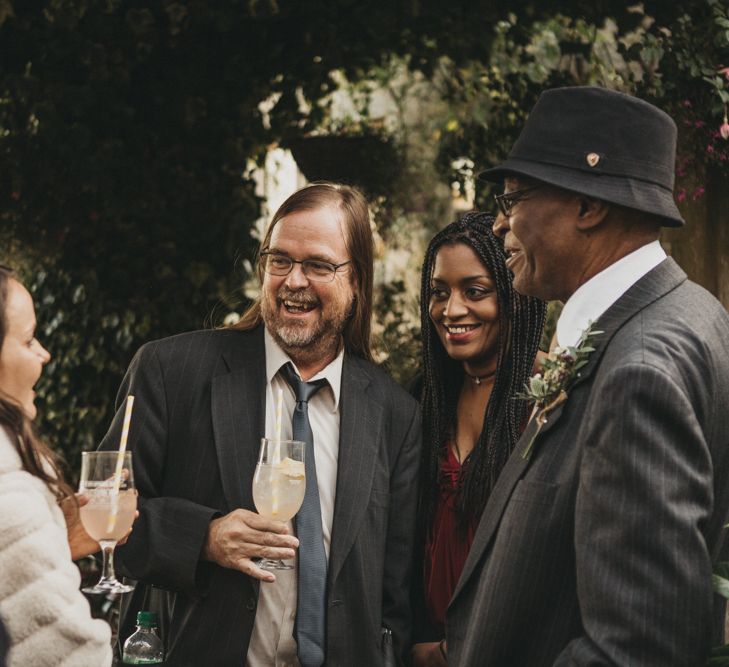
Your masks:
{"label": "long black braided hair of the woman in red", "polygon": [[463,365],[451,359],[430,319],[431,279],[438,251],[463,243],[489,270],[496,285],[499,337],[496,377],[484,414],[483,429],[462,470],[457,498],[458,523],[465,526],[481,515],[494,483],[526,422],[529,406],[516,398],[531,375],[544,326],[545,304],[522,296],[512,287],[503,243],[494,235],[493,217],[468,213],[433,237],[423,262],[421,327],[423,338],[423,449],[421,518],[432,525],[438,497],[441,460],[455,437]]}

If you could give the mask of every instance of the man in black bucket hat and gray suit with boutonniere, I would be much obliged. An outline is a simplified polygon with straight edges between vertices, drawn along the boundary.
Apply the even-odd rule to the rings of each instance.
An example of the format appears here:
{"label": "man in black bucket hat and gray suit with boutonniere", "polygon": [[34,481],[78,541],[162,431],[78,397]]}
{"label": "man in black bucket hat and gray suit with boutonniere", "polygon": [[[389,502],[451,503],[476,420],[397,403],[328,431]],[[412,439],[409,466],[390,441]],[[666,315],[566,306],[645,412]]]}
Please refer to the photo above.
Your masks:
{"label": "man in black bucket hat and gray suit with boutonniere", "polygon": [[555,89],[485,173],[514,286],[565,307],[448,610],[449,664],[697,667],[721,639],[729,316],[658,241],[683,225],[675,147],[644,101]]}

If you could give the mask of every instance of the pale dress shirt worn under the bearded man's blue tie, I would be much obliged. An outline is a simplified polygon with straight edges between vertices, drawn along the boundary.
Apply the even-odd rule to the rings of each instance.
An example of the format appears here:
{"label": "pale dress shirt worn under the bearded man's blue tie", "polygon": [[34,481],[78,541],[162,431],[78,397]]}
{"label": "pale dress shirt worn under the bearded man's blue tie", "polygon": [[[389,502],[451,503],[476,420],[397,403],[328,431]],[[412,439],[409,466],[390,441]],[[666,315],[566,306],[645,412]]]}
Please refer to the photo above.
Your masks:
{"label": "pale dress shirt worn under the bearded man's blue tie", "polygon": [[[279,390],[283,397],[281,437],[291,438],[291,422],[296,406],[293,389],[279,373],[287,363],[296,364],[278,346],[268,331],[264,333],[266,351],[266,437],[276,437],[276,406]],[[316,477],[321,505],[324,550],[327,559],[331,545],[334,497],[337,487],[339,459],[339,397],[344,348],[336,359],[308,381],[325,379],[328,387],[319,390],[309,401],[309,422],[314,434]],[[298,373],[298,368],[296,368]],[[289,522],[293,534],[293,524]],[[294,563],[295,564],[295,563]],[[299,666],[296,657],[294,621],[296,620],[297,576],[293,570],[276,570],[274,583],[261,582],[256,619],[248,647],[249,667]]]}

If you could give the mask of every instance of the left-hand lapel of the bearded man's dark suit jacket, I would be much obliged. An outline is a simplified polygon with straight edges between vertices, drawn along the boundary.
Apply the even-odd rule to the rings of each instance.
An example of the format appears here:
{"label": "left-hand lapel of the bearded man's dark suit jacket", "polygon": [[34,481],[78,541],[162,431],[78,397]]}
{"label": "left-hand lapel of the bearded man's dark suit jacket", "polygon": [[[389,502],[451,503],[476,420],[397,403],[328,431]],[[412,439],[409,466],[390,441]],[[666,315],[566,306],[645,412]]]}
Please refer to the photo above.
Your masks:
{"label": "left-hand lapel of the bearded man's dark suit jacket", "polygon": [[263,328],[241,333],[221,356],[211,411],[220,478],[228,510],[254,510],[251,489],[259,438],[265,430],[266,362]]}

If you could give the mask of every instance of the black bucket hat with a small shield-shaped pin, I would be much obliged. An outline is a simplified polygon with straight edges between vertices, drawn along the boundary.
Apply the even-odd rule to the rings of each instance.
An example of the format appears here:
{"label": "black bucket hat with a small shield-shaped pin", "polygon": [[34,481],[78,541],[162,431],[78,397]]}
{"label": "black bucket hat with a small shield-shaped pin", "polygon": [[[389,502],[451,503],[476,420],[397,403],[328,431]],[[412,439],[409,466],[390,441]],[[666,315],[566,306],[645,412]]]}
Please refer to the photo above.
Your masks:
{"label": "black bucket hat with a small shield-shaped pin", "polygon": [[539,96],[506,161],[479,176],[529,176],[680,227],[675,157],[676,124],[648,102],[593,86],[554,88]]}

